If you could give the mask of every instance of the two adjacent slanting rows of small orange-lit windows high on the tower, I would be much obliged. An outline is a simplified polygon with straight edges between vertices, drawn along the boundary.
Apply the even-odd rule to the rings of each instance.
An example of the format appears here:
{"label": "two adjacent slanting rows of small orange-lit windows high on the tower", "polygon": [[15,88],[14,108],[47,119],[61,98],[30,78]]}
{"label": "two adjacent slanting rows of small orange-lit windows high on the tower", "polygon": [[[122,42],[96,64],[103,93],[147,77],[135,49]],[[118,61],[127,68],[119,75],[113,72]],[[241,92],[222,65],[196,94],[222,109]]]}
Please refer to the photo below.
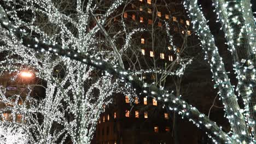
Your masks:
{"label": "two adjacent slanting rows of small orange-lit windows high on the tower", "polygon": [[[139,10],[142,11],[142,8],[140,8]],[[152,10],[151,10],[150,8],[148,8],[148,13],[149,13],[149,14],[152,14]],[[157,12],[157,15],[158,15],[158,17],[161,17],[161,12],[158,11],[158,12]],[[125,18],[128,17],[128,13],[127,13],[127,12],[124,13],[124,17],[125,17]],[[165,19],[167,19],[167,20],[169,19],[169,15],[168,15],[168,14],[165,14]],[[132,20],[136,20],[136,15],[135,15],[135,14],[132,14]],[[172,20],[177,22],[177,17],[172,16]],[[184,20],[183,20],[183,19],[181,19],[180,21],[181,21],[182,24],[184,24]],[[144,17],[143,17],[143,16],[139,16],[139,22],[141,22],[141,23],[144,22]],[[149,25],[152,25],[152,23],[153,23],[152,19],[148,19],[148,24],[149,24]],[[186,20],[186,25],[187,25],[187,26],[190,25],[189,20]],[[161,22],[158,22],[158,26],[161,27],[161,26],[162,26],[162,23],[161,23]]]}

